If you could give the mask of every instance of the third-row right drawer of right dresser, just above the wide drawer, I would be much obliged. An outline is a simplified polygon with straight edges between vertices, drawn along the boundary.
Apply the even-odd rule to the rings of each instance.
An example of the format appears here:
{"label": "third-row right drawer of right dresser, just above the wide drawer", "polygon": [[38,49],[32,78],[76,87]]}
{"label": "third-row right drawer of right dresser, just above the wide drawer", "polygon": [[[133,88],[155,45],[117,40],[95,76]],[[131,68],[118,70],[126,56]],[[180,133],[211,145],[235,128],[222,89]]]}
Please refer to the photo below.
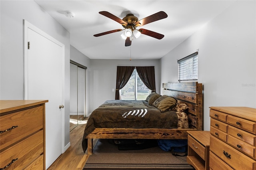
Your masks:
{"label": "third-row right drawer of right dresser, just above the wide drawer", "polygon": [[242,152],[248,154],[252,158],[255,158],[255,146],[252,146],[234,136],[228,135],[228,143],[241,150]]}

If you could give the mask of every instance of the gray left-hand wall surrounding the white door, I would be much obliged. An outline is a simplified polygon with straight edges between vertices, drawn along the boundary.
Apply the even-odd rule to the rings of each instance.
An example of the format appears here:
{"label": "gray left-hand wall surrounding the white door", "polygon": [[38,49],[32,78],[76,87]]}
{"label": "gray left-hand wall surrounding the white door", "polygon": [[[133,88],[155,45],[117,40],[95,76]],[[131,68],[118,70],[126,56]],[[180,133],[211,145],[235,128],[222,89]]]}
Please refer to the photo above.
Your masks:
{"label": "gray left-hand wall surrounding the white door", "polygon": [[70,33],[32,0],[0,1],[0,99],[23,99],[23,20],[65,45],[65,136],[69,138]]}

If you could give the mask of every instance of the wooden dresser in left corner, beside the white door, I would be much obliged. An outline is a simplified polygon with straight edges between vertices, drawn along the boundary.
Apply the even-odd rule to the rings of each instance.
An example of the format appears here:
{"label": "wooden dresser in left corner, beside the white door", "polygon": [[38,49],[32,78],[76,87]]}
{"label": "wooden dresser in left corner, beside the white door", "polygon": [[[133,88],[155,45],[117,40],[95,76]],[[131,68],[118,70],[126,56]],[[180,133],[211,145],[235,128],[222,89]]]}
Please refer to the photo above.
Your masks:
{"label": "wooden dresser in left corner, beside the white door", "polygon": [[0,169],[45,170],[47,100],[0,100]]}

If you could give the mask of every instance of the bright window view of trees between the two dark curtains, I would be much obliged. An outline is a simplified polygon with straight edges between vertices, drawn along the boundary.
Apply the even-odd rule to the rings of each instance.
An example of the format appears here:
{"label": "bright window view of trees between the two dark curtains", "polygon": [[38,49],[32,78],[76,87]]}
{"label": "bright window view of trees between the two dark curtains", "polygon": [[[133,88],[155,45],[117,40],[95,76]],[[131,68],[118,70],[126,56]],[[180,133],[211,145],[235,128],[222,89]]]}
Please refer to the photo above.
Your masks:
{"label": "bright window view of trees between the two dark curtains", "polygon": [[150,89],[141,81],[136,69],[134,69],[128,83],[120,90],[122,100],[145,100]]}

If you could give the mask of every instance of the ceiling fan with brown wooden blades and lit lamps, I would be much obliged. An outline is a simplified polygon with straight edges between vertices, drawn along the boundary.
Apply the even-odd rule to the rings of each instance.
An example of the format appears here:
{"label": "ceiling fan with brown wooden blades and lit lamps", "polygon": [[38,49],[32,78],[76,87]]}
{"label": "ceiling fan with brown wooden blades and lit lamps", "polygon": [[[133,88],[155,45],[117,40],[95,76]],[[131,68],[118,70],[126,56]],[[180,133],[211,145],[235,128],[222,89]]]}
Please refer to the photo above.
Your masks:
{"label": "ceiling fan with brown wooden blades and lit lamps", "polygon": [[[113,14],[107,12],[107,11],[101,11],[100,14],[118,22],[119,24],[122,24],[124,27],[124,32],[121,34],[122,38],[125,39],[125,46],[130,46],[132,44],[132,40],[138,38],[140,34],[144,34],[147,36],[151,36],[153,38],[156,38],[158,40],[164,38],[163,34],[159,34],[157,32],[153,32],[146,29],[139,29],[137,30],[136,27],[138,26],[144,26],[146,24],[149,24],[154,21],[162,20],[164,18],[167,18],[167,14],[163,11],[157,12],[156,14],[152,14],[146,18],[143,18],[141,20],[138,20],[136,16],[133,14],[127,14],[126,17],[123,19],[118,18],[117,16],[114,16]],[[114,32],[120,32],[123,31],[122,29],[117,30],[111,30],[107,32],[102,32],[100,34],[93,35],[94,37],[104,36],[106,34],[114,33]]]}

